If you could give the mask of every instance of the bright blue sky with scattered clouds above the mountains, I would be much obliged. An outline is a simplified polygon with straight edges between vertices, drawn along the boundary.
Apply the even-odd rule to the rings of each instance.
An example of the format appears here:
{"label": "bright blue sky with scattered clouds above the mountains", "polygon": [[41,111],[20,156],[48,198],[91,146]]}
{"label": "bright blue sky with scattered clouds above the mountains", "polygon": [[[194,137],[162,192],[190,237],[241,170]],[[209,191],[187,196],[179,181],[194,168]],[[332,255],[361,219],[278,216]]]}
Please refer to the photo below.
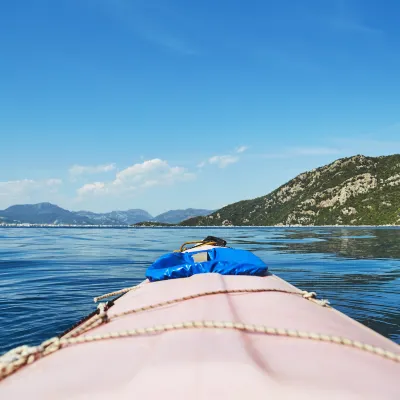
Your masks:
{"label": "bright blue sky with scattered clouds above the mountains", "polygon": [[219,208],[400,152],[397,0],[0,6],[0,208]]}

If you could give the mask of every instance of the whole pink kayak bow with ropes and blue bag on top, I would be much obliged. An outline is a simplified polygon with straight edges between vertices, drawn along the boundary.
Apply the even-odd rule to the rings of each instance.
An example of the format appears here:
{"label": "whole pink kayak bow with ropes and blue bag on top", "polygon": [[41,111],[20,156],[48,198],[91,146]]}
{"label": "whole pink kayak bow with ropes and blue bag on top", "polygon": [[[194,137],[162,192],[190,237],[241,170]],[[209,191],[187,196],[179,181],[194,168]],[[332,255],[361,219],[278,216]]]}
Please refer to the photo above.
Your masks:
{"label": "whole pink kayak bow with ropes and blue bag on top", "polygon": [[225,244],[182,246],[0,357],[0,398],[400,399],[400,346]]}

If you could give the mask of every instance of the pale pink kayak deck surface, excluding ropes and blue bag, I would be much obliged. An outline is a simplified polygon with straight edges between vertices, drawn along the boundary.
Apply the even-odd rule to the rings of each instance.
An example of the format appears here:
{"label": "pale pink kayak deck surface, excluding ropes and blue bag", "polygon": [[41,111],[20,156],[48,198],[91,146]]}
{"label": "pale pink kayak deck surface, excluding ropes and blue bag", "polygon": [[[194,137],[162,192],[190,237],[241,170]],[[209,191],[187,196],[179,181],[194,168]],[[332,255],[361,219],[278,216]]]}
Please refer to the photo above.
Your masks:
{"label": "pale pink kayak deck surface, excluding ropes and blue bag", "polygon": [[[202,292],[300,292],[267,277],[195,275],[145,283],[108,315]],[[62,316],[60,316],[62,317]],[[301,295],[259,291],[199,296],[119,317],[90,334],[230,321],[335,335],[399,353],[394,342]],[[2,399],[399,399],[400,364],[318,340],[193,328],[71,345],[0,382]]]}

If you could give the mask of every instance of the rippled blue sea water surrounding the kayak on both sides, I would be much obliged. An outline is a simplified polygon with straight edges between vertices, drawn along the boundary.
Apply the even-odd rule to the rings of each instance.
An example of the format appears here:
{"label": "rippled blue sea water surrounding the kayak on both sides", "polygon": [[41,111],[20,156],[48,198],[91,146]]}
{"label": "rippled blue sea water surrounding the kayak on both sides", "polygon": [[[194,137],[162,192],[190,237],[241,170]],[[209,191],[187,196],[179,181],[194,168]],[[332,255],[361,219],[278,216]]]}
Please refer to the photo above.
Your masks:
{"label": "rippled blue sea water surrounding the kayak on both sides", "polygon": [[143,280],[158,256],[207,235],[400,343],[400,229],[0,228],[0,354],[37,344]]}

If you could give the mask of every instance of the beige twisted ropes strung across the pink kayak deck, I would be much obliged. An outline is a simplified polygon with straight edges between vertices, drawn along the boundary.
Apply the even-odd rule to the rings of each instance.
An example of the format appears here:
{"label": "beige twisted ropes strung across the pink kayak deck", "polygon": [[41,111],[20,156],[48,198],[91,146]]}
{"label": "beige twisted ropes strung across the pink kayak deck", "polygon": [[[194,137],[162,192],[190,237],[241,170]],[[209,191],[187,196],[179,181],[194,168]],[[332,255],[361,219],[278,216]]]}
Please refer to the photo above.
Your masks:
{"label": "beige twisted ropes strung across the pink kayak deck", "polygon": [[[120,291],[111,292],[106,295],[96,297],[95,301],[106,297],[123,294],[131,290],[137,290],[142,285],[143,283],[137,286],[125,288]],[[137,328],[131,330],[118,331],[118,332],[107,332],[98,335],[83,335],[89,330],[92,330],[100,325],[106,324],[117,318],[138,312],[145,312],[154,308],[175,304],[181,301],[191,300],[202,296],[239,294],[239,293],[260,293],[260,292],[277,292],[277,293],[287,293],[298,296],[300,295],[303,298],[312,301],[320,306],[327,307],[329,304],[327,300],[318,300],[316,298],[315,292],[288,291],[281,289],[224,289],[224,290],[207,291],[207,292],[183,296],[172,300],[163,301],[157,304],[150,304],[148,306],[134,308],[111,316],[108,315],[107,313],[109,308],[109,303],[100,303],[98,307],[99,308],[98,314],[94,315],[89,320],[85,321],[75,329],[71,330],[63,337],[61,338],[55,337],[46,340],[39,346],[20,346],[13,350],[10,350],[9,352],[1,356],[0,380],[13,374],[24,365],[29,365],[34,361],[39,360],[40,358],[46,357],[60,349],[63,349],[71,345],[77,345],[77,344],[83,344],[101,340],[111,340],[111,339],[113,340],[113,339],[137,337],[143,335],[154,335],[154,334],[161,334],[163,332],[170,332],[183,329],[228,329],[228,330],[237,330],[253,334],[290,337],[295,339],[308,339],[325,343],[343,345],[354,349],[362,350],[394,362],[400,362],[400,354],[395,354],[391,351],[387,351],[380,347],[372,346],[366,343],[361,343],[359,341],[351,340],[340,336],[332,336],[315,332],[298,331],[294,329],[274,328],[266,325],[243,324],[241,322],[233,322],[233,321],[203,321],[203,320],[185,321],[175,324],[154,325],[145,328]]]}

